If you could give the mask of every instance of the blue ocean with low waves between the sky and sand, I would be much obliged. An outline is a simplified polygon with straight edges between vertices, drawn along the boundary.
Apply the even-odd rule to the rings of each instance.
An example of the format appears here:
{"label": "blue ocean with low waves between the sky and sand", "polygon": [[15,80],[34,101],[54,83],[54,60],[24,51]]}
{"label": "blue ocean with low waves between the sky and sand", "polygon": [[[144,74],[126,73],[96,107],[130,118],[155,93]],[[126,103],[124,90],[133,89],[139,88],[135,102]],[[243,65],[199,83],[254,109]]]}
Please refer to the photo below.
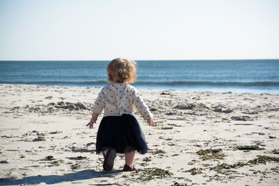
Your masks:
{"label": "blue ocean with low waves between the sky and sand", "polygon": [[[109,62],[0,61],[0,83],[101,87]],[[137,88],[279,94],[279,59],[136,62]]]}

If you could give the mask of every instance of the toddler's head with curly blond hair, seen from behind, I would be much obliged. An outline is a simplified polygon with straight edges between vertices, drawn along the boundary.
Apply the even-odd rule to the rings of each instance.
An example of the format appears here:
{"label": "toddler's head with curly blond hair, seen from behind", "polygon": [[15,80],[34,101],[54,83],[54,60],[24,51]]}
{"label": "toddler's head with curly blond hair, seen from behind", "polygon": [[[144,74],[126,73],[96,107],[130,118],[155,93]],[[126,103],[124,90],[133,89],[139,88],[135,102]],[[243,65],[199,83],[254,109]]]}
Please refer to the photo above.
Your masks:
{"label": "toddler's head with curly blond hair, seen from behind", "polygon": [[116,58],[107,65],[107,79],[116,83],[133,83],[136,77],[134,61]]}

